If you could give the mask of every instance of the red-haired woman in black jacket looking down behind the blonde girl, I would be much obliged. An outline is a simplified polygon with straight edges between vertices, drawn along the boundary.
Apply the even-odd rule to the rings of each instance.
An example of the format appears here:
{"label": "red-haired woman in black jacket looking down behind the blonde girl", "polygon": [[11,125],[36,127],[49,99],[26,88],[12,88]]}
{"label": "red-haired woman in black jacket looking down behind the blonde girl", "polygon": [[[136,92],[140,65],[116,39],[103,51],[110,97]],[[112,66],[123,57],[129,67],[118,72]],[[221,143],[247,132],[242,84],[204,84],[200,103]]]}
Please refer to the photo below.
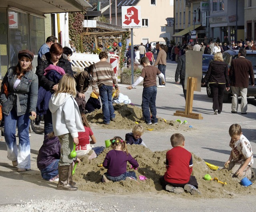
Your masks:
{"label": "red-haired woman in black jacket looking down behind the blonde girl", "polygon": [[[51,91],[53,93],[54,91],[58,90],[58,84],[50,81],[44,75],[44,69],[46,69],[50,64],[62,67],[65,73],[73,76],[70,62],[62,57],[62,53],[62,46],[59,43],[55,43],[52,44],[50,52],[45,53],[42,55],[41,59],[38,60],[36,75],[38,76],[39,85],[46,89],[46,91]],[[47,135],[51,132],[53,132],[52,113],[48,109],[46,115],[44,115],[44,135]]]}

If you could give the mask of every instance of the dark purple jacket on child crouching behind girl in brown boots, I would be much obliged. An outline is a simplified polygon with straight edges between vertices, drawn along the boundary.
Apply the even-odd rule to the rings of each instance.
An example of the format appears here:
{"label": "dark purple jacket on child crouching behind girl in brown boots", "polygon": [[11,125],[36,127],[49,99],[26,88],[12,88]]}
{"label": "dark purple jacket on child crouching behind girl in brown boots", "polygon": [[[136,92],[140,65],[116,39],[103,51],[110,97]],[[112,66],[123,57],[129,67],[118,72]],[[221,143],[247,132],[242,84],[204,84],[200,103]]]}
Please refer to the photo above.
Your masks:
{"label": "dark purple jacket on child crouching behind girl in brown boots", "polygon": [[42,170],[56,159],[60,159],[60,141],[58,137],[44,139],[37,156],[37,167]]}

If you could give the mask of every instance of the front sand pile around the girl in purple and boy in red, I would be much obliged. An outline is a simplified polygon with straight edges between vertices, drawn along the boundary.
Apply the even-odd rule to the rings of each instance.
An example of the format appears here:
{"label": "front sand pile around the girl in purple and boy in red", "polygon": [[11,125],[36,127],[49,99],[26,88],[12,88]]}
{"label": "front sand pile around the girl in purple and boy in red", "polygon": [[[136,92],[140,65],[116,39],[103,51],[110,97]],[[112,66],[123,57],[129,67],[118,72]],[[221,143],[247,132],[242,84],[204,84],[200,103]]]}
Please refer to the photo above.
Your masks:
{"label": "front sand pile around the girl in purple and boy in red", "polygon": [[[74,181],[77,182],[79,190],[106,194],[167,193],[167,191],[162,190],[162,186],[159,183],[159,178],[166,171],[165,160],[167,150],[152,152],[150,149],[141,145],[128,146],[129,153],[140,165],[138,170],[135,170],[137,178],[139,175],[144,175],[148,178],[144,181],[138,180],[139,184],[130,181],[101,182],[102,174],[106,172],[106,169],[104,167],[98,167],[97,164],[103,162],[106,153],[110,150],[111,148],[105,149],[96,159],[84,159],[77,166]],[[168,192],[170,195],[180,195],[184,198],[220,198],[220,196],[222,198],[228,198],[238,195],[256,194],[254,184],[244,188],[239,182],[232,179],[227,170],[212,171],[206,166],[204,160],[196,155],[193,155],[193,160],[192,175],[196,176],[198,180],[199,190],[202,192],[202,196],[195,197],[190,195],[190,193],[173,194]],[[127,170],[133,170],[130,169],[130,164],[127,165]],[[210,174],[212,178],[217,177],[220,181],[227,182],[227,184],[222,185],[216,181],[206,181],[203,179],[205,174]]]}

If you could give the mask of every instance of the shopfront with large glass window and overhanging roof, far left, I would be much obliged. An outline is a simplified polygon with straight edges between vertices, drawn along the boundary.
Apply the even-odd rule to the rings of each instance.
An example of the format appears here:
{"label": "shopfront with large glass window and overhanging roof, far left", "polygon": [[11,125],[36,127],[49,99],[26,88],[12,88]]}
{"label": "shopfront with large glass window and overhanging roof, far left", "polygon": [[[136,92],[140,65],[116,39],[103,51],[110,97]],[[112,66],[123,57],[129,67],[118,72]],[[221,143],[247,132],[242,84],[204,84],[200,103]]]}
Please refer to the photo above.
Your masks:
{"label": "shopfront with large glass window and overhanging roof, far left", "polygon": [[[81,0],[1,0],[0,1],[0,77],[4,77],[9,67],[17,65],[18,52],[28,49],[37,55],[46,37],[54,35],[58,37],[56,14],[61,13],[62,29],[61,39],[68,41],[67,12],[82,11],[84,7],[90,7],[87,1]],[[58,3],[58,4],[57,4]],[[49,14],[49,15],[45,15]],[[64,26],[66,24],[66,26]],[[66,38],[67,37],[67,38]],[[37,65],[34,59],[32,65]]]}

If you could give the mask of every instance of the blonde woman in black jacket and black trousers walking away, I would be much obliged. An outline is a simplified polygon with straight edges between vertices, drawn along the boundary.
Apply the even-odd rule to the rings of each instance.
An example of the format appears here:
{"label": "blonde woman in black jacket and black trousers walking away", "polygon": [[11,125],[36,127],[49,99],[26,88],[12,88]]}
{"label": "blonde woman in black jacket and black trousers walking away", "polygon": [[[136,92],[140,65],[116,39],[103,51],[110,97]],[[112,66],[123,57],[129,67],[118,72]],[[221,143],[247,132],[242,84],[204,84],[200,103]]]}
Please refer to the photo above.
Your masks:
{"label": "blonde woman in black jacket and black trousers walking away", "polygon": [[222,111],[223,93],[229,90],[228,65],[223,61],[222,53],[214,54],[214,61],[208,67],[205,77],[202,79],[202,85],[209,81],[211,92],[213,95],[212,109],[214,115],[220,114]]}

